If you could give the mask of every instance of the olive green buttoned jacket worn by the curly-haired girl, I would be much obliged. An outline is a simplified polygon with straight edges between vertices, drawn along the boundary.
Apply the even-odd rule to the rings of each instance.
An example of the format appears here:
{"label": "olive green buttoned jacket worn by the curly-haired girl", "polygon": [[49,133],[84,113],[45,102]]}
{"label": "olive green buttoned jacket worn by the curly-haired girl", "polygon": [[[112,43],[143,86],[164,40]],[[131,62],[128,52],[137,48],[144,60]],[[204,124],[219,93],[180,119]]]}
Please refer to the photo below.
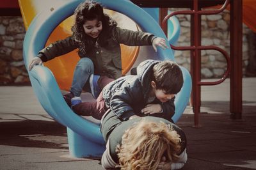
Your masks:
{"label": "olive green buttoned jacket worn by the curly-haired girl", "polygon": [[[110,34],[108,43],[104,47],[96,42],[93,49],[88,50],[86,54],[81,54],[81,52],[78,52],[78,54],[80,58],[86,57],[92,59],[95,74],[107,75],[113,79],[122,76],[120,43],[129,46],[152,45],[152,40],[156,37],[150,33],[121,29],[116,26],[111,28]],[[45,49],[40,50],[38,57],[45,62],[57,56],[67,54],[78,47],[79,44],[73,37],[68,36],[64,40],[51,43]]]}

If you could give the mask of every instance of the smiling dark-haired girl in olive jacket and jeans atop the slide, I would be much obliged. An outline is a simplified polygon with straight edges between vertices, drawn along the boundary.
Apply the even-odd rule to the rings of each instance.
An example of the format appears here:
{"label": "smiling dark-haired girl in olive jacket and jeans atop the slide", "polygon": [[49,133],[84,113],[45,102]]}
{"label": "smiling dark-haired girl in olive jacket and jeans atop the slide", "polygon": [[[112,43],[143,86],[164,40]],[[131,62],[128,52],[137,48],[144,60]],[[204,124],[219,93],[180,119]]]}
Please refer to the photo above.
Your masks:
{"label": "smiling dark-haired girl in olive jacket and jeans atop the slide", "polygon": [[74,15],[76,20],[72,26],[72,35],[40,50],[38,56],[29,63],[31,70],[35,65],[42,65],[43,62],[78,49],[81,59],[74,71],[70,93],[64,95],[69,106],[72,98],[79,98],[83,89],[97,98],[100,87],[108,84],[104,80],[109,79],[104,77],[117,79],[122,76],[120,43],[130,46],[152,45],[155,50],[157,46],[168,48],[164,38],[121,29],[115,20],[103,12],[102,6],[94,1],[79,4]]}

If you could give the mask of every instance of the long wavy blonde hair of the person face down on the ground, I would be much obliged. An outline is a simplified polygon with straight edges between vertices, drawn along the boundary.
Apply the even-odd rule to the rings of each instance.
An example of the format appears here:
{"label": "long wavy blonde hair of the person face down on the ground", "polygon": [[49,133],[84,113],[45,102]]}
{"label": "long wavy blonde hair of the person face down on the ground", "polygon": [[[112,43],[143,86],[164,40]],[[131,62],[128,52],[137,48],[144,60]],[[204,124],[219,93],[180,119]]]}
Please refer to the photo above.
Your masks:
{"label": "long wavy blonde hair of the person face down on the ground", "polygon": [[170,125],[142,119],[125,131],[116,147],[121,169],[157,169],[163,155],[175,162],[180,151],[180,136]]}

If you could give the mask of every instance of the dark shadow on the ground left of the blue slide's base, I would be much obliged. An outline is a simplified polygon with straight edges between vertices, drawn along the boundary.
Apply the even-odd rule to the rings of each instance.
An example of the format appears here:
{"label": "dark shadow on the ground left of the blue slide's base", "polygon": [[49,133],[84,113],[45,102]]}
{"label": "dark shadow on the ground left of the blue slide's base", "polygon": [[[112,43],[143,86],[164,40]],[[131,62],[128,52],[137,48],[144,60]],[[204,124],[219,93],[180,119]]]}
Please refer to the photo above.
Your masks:
{"label": "dark shadow on the ground left of the blue slide's base", "polygon": [[0,145],[68,150],[67,128],[56,121],[5,121],[0,127]]}

